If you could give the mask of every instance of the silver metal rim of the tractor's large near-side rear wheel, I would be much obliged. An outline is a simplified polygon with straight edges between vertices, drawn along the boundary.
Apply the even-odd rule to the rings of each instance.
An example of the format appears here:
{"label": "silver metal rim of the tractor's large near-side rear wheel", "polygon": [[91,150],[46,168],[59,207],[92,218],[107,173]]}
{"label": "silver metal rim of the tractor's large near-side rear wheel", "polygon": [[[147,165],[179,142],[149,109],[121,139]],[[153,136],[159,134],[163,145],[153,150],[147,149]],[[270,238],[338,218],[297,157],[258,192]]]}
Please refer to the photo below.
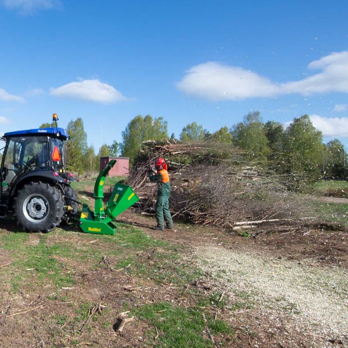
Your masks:
{"label": "silver metal rim of the tractor's large near-side rear wheel", "polygon": [[32,194],[23,202],[23,214],[27,220],[33,223],[41,223],[46,220],[50,207],[47,199],[41,194]]}

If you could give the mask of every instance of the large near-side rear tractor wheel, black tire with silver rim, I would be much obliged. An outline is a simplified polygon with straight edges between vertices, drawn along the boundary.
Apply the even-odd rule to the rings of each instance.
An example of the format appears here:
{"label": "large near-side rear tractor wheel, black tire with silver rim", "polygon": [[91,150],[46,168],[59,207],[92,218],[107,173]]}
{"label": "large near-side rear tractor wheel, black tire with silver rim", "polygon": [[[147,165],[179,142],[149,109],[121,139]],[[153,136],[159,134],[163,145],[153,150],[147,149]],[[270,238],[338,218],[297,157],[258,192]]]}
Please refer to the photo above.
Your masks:
{"label": "large near-side rear tractor wheel, black tire with silver rim", "polygon": [[47,182],[30,182],[18,190],[14,214],[24,230],[50,232],[62,221],[63,196],[58,188]]}

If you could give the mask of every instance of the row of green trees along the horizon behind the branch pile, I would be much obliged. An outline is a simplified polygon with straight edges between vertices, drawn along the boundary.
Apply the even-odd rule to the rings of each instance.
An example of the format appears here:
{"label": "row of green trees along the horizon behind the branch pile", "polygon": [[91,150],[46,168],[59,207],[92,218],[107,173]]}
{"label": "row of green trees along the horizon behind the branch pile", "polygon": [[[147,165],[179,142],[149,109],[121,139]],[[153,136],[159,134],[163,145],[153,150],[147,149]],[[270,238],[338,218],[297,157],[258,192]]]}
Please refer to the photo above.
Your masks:
{"label": "row of green trees along the horizon behind the branch pile", "polygon": [[[121,154],[129,157],[132,164],[143,141],[175,138],[174,133],[169,137],[168,123],[163,117],[153,118],[151,115],[134,117],[122,132],[122,143],[104,144],[98,153],[92,146],[87,146],[81,118],[70,121],[67,131],[71,137],[66,150],[69,169],[80,174],[98,171],[101,156]],[[312,183],[320,177],[346,179],[348,175],[348,158],[343,144],[338,139],[323,144],[322,133],[313,126],[308,115],[294,118],[284,129],[279,122],[264,123],[260,112],[254,111],[245,115],[243,122],[221,127],[214,133],[192,122],[182,128],[178,138],[181,142],[209,141],[235,145],[243,150],[251,164],[289,175],[295,183]]]}

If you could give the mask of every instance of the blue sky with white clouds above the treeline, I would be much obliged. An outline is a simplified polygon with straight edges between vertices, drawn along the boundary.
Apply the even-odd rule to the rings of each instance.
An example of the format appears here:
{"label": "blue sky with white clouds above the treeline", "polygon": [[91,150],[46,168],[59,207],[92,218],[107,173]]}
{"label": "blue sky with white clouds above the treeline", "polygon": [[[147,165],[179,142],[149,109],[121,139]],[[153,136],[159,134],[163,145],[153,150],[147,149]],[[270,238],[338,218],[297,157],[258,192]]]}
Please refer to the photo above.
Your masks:
{"label": "blue sky with white clouds above the treeline", "polygon": [[0,133],[58,113],[88,143],[136,115],[169,135],[213,132],[251,110],[305,113],[348,146],[347,1],[0,0]]}

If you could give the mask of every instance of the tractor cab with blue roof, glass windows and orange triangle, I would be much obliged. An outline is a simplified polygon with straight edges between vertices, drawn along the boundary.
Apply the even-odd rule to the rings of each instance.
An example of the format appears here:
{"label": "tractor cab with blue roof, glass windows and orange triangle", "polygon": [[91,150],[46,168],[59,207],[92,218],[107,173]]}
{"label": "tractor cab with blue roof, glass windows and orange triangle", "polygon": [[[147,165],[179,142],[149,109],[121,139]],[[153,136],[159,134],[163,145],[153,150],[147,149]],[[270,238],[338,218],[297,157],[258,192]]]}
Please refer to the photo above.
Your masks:
{"label": "tractor cab with blue roof, glass windows and orange triangle", "polygon": [[1,194],[9,193],[23,177],[64,174],[64,141],[67,139],[63,128],[5,133],[2,138],[5,146],[2,149],[0,172]]}

